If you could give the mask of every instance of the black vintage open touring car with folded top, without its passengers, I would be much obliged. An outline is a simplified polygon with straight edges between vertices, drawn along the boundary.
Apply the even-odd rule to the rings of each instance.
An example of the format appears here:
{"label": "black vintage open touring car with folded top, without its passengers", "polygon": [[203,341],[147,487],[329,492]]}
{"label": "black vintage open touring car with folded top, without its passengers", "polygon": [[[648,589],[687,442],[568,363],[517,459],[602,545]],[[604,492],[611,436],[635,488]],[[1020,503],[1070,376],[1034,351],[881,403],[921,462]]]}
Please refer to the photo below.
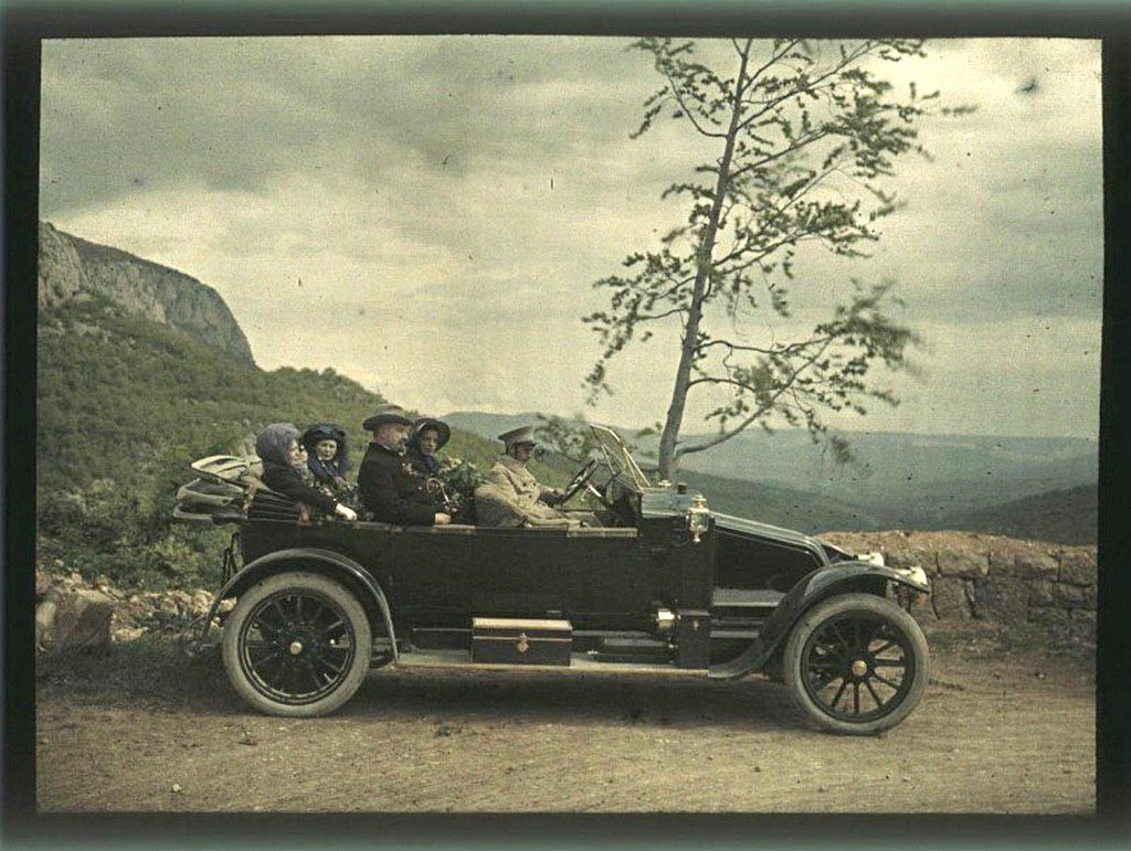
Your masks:
{"label": "black vintage open touring car with folded top, without its passengers", "polygon": [[331,712],[386,665],[758,674],[837,732],[908,715],[929,677],[908,614],[930,592],[922,568],[713,513],[681,485],[650,484],[614,432],[593,433],[604,458],[566,490],[593,494],[602,527],[310,520],[262,486],[258,459],[197,461],[175,515],[239,527],[198,637],[235,598],[227,675],[251,706],[286,717]]}

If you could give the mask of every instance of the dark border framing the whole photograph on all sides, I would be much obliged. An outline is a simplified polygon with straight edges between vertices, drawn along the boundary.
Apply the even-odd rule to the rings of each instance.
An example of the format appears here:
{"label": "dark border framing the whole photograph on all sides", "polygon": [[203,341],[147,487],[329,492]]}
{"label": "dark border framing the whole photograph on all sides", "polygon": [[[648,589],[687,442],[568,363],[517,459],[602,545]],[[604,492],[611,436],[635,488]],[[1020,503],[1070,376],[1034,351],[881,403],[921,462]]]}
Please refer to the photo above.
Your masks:
{"label": "dark border framing the whole photograph on all sides", "polygon": [[[5,765],[11,846],[216,848],[1124,844],[1131,811],[1131,7],[1126,3],[31,2],[0,6],[5,118]],[[749,815],[98,814],[35,811],[33,652],[40,43],[58,37],[319,34],[588,34],[1103,40],[1105,283],[1099,427],[1097,817]],[[878,809],[914,808],[908,799]],[[333,842],[330,840],[334,840]]]}

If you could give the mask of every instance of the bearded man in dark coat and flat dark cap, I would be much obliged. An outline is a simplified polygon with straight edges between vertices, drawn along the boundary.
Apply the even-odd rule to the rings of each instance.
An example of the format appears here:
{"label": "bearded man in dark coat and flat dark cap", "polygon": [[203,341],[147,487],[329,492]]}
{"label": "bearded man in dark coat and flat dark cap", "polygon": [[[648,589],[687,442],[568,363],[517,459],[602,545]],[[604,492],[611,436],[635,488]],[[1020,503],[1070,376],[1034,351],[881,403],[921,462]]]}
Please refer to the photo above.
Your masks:
{"label": "bearded man in dark coat and flat dark cap", "polygon": [[451,516],[432,507],[404,454],[412,424],[395,405],[382,405],[363,423],[373,440],[357,470],[361,502],[382,523],[444,526]]}

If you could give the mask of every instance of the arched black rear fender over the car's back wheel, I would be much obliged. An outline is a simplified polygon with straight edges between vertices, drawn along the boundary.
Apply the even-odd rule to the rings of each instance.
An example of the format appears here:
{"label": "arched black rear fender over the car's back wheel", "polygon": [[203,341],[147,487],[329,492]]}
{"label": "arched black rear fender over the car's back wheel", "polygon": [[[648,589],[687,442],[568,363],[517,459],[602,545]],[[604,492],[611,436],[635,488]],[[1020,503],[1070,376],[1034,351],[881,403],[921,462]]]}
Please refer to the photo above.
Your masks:
{"label": "arched black rear fender over the car's back wheel", "polygon": [[397,636],[392,629],[392,613],[389,609],[389,601],[385,596],[385,591],[369,571],[348,556],[344,556],[333,549],[314,547],[277,549],[244,565],[213,598],[211,608],[208,610],[208,617],[205,620],[205,628],[207,628],[207,625],[216,616],[222,600],[228,597],[238,597],[241,592],[268,576],[295,570],[309,571],[310,573],[318,573],[338,580],[356,593],[359,601],[365,609],[365,614],[369,615],[370,622],[377,625],[378,618],[380,618],[380,623],[385,624],[392,646],[392,661],[396,661]]}

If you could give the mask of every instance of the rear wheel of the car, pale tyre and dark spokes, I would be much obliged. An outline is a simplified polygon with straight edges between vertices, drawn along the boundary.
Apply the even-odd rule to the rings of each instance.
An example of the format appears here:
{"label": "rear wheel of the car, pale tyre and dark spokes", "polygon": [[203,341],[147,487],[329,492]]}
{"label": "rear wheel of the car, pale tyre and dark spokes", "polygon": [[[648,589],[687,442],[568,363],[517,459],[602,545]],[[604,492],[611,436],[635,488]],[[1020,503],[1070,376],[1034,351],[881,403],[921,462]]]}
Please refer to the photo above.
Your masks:
{"label": "rear wheel of the car, pale tyre and dark spokes", "polygon": [[253,709],[314,718],[338,709],[365,679],[372,631],[357,598],[314,573],[252,585],[224,622],[224,668]]}

